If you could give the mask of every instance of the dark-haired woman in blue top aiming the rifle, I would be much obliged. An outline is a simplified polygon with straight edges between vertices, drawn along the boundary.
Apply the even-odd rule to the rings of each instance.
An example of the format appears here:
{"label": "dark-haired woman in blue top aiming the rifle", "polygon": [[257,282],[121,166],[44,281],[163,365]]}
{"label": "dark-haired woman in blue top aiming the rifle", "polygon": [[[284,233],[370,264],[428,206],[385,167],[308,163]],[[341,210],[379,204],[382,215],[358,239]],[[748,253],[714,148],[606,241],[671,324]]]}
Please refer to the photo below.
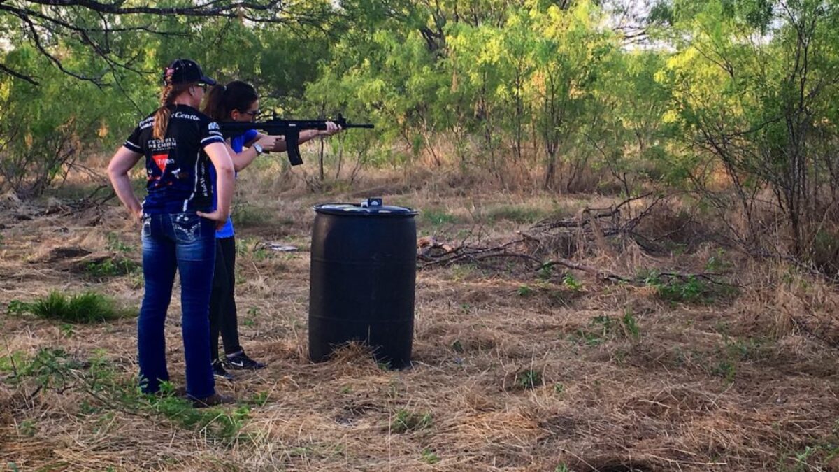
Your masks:
{"label": "dark-haired woman in blue top aiming the rifle", "polygon": [[[216,122],[250,123],[259,113],[259,96],[251,84],[243,81],[231,81],[227,85],[212,87],[204,102],[204,113]],[[305,143],[316,136],[328,136],[341,131],[341,127],[326,122],[325,130],[309,129],[300,132],[300,143]],[[233,166],[236,171],[248,167],[258,155],[269,151],[286,150],[285,141],[276,136],[258,133],[250,129],[244,134],[234,136],[227,144]],[[236,239],[233,223],[230,219],[216,232],[216,275],[210,303],[210,349],[212,370],[216,377],[232,380],[225,365],[235,370],[258,370],[265,364],[251,359],[239,344],[234,278],[236,265]],[[219,359],[218,338],[224,345],[224,361]]]}

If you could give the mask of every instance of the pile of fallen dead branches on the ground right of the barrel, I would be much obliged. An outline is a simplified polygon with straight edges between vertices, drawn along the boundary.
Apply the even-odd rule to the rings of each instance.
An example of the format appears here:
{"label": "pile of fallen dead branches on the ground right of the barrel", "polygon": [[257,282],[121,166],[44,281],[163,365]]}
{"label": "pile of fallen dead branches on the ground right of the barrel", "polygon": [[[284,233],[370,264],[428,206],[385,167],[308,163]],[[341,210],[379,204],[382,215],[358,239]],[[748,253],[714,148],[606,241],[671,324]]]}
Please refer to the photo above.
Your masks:
{"label": "pile of fallen dead branches on the ground right of the barrel", "polygon": [[[645,200],[648,199],[648,200]],[[640,207],[632,210],[633,202]],[[646,270],[639,276],[620,275],[611,270],[588,265],[578,260],[602,261],[603,265],[615,265],[624,251],[633,248],[651,253],[656,249],[656,240],[669,238],[675,233],[684,232],[687,226],[693,226],[691,219],[675,223],[676,229],[660,237],[647,237],[639,233],[640,225],[649,219],[668,221],[659,218],[659,208],[664,206],[665,197],[653,196],[652,193],[633,197],[609,207],[586,207],[574,218],[548,219],[535,224],[527,231],[519,233],[519,239],[508,240],[494,247],[475,247],[466,244],[444,243],[428,237],[420,241],[418,257],[425,261],[421,269],[435,265],[476,265],[496,271],[512,271],[519,275],[530,272],[547,278],[551,270],[565,268],[580,270],[602,280],[650,284],[657,286],[664,299],[674,302],[696,302],[706,294],[716,293],[722,287],[731,286],[717,281],[719,274],[685,273],[678,270]],[[664,210],[667,212],[668,210]],[[624,217],[624,213],[635,215]],[[677,218],[678,220],[679,218]],[[660,228],[659,228],[660,229]],[[642,242],[645,241],[645,242]],[[695,243],[698,244],[698,243]],[[657,250],[657,249],[656,249]],[[636,251],[630,260],[638,260]],[[648,258],[651,260],[651,258]],[[499,264],[500,263],[500,264]],[[625,263],[624,263],[625,266]],[[637,269],[636,269],[637,270]]]}

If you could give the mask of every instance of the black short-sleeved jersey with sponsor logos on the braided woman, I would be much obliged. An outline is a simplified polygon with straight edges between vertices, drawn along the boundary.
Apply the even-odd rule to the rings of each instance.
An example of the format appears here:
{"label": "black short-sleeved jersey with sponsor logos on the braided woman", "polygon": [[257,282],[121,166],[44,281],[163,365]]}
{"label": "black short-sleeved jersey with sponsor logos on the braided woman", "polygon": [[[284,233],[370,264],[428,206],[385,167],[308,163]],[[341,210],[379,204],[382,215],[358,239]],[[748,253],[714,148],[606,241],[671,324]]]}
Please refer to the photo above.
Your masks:
{"label": "black short-sleeved jersey with sponsor logos on the braided woman", "polygon": [[146,156],[149,196],[143,212],[175,213],[213,207],[210,158],[204,147],[224,143],[218,124],[187,105],[170,107],[164,139],[154,139],[154,114],[143,119],[123,144]]}

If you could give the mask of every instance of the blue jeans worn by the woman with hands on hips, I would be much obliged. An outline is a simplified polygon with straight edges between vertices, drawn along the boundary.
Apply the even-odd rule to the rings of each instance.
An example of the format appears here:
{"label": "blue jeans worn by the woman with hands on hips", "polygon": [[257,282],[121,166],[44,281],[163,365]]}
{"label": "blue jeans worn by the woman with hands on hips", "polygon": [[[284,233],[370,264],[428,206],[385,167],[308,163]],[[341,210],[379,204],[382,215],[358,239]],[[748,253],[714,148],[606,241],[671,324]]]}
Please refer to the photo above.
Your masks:
{"label": "blue jeans worn by the woman with hands on hips", "polygon": [[169,380],[164,325],[175,270],[180,272],[181,331],[184,338],[186,392],[195,398],[216,393],[210,362],[210,292],[216,264],[215,223],[195,212],[143,217],[145,295],[137,322],[138,358],[143,391],[159,391]]}

